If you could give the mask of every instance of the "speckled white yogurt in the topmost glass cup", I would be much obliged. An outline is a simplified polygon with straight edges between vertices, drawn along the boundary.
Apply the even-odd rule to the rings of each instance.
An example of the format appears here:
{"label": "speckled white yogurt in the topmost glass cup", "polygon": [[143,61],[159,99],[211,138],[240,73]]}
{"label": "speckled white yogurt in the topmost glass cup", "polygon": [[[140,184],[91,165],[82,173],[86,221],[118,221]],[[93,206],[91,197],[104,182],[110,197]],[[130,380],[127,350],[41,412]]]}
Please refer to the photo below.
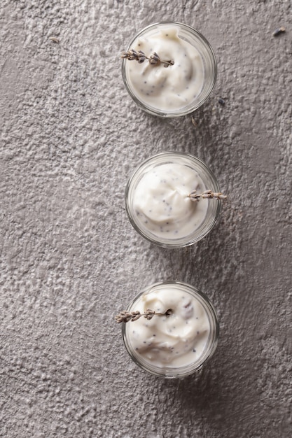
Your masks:
{"label": "speckled white yogurt in the topmost glass cup", "polygon": [[204,85],[204,64],[200,52],[178,35],[170,24],[158,31],[138,37],[131,47],[146,56],[157,52],[160,59],[174,65],[152,65],[126,61],[126,76],[130,88],[142,103],[162,111],[178,110],[197,99]]}

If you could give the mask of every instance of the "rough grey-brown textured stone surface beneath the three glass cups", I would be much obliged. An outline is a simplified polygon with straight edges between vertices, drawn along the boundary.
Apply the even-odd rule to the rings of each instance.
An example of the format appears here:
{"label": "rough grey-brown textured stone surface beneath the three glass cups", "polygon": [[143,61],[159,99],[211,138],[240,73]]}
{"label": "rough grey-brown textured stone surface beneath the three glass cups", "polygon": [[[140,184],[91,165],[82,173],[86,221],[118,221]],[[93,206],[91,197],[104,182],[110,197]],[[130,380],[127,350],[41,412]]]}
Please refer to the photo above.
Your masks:
{"label": "rough grey-brown textured stone surface beneath the three glass cups", "polygon": [[[167,19],[218,58],[196,126],[137,109],[120,75],[134,32]],[[1,0],[1,437],[291,436],[291,24],[290,0]],[[191,248],[127,220],[127,178],[162,150],[200,157],[229,195]],[[216,355],[181,381],[138,369],[113,322],[166,279],[206,292],[221,322]]]}

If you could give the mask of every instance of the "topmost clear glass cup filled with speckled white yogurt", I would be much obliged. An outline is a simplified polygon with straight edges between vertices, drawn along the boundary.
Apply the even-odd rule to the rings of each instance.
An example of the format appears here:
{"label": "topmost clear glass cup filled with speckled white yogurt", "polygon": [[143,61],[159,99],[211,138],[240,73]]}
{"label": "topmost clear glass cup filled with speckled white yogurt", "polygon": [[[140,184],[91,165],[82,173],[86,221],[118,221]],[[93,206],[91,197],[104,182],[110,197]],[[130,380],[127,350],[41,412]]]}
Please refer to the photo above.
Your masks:
{"label": "topmost clear glass cup filled with speckled white yogurt", "polygon": [[[158,34],[163,32],[165,29],[175,29],[179,36],[179,42],[181,43],[182,41],[183,44],[189,43],[192,48],[194,48],[193,50],[195,50],[197,53],[198,56],[195,58],[193,55],[189,56],[187,51],[188,46],[186,47],[186,59],[190,60],[190,65],[187,66],[188,69],[184,69],[186,63],[184,63],[183,59],[180,58],[181,52],[185,50],[185,47],[174,51],[174,48],[168,43],[169,53],[167,51],[166,53],[169,56],[165,56],[174,61],[173,66],[168,66],[167,69],[165,69],[163,64],[160,64],[160,66],[149,66],[147,60],[139,64],[135,60],[129,61],[128,59],[123,59],[122,76],[127,91],[140,108],[147,113],[158,115],[164,118],[170,118],[192,113],[202,104],[204,104],[204,101],[207,100],[216,83],[217,62],[214,50],[211,48],[211,45],[207,39],[204,38],[199,31],[193,29],[193,27],[179,22],[158,22],[155,24],[150,24],[139,31],[134,38],[131,39],[130,43],[125,48],[125,51],[131,49],[138,51],[139,49],[143,48],[142,46],[144,43],[142,42],[141,44],[141,41],[145,41],[148,38],[157,38]],[[158,52],[158,50],[160,50],[160,52],[162,51],[163,53],[165,48],[167,50],[167,41],[164,41],[163,44],[164,46],[161,48],[160,43],[157,43],[157,40],[156,42],[153,41],[151,52]],[[151,53],[145,54],[146,56],[151,55]],[[133,63],[135,66],[134,71],[132,72]],[[186,75],[182,73],[181,66],[183,66],[184,71],[188,72]],[[160,71],[157,69],[160,69]],[[159,74],[156,75],[155,72]],[[151,75],[154,73],[155,77],[151,78]],[[152,85],[149,83],[151,80],[153,81],[151,83]],[[145,85],[147,81],[148,85]],[[188,90],[186,90],[184,85],[184,88],[181,88],[185,81]],[[169,84],[171,85],[170,87]],[[151,87],[154,88],[155,86],[155,90],[158,90],[160,85],[161,88],[159,90],[161,94],[159,94],[159,99],[153,100],[154,94],[151,96],[151,93],[153,92]],[[144,90],[144,87],[149,87],[149,89],[147,88]],[[172,89],[175,90],[174,94],[169,94],[172,93]],[[169,97],[169,100],[165,101],[167,96]],[[176,102],[176,96],[181,96],[179,98],[181,101]],[[185,101],[183,101],[183,99],[185,99]]]}

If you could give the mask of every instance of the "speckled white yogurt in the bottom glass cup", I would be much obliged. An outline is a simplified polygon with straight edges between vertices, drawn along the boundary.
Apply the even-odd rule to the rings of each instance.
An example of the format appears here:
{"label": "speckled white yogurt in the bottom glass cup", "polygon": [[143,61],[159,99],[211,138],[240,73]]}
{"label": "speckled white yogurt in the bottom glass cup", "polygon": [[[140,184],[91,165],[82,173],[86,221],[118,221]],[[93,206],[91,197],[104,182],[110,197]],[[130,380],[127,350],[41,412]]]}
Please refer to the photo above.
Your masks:
{"label": "speckled white yogurt in the bottom glass cup", "polygon": [[[202,299],[202,298],[201,298]],[[132,354],[139,362],[159,369],[184,368],[200,362],[214,337],[208,313],[199,299],[186,287],[160,285],[142,294],[132,311],[152,309],[169,316],[142,316],[126,323],[125,336]]]}

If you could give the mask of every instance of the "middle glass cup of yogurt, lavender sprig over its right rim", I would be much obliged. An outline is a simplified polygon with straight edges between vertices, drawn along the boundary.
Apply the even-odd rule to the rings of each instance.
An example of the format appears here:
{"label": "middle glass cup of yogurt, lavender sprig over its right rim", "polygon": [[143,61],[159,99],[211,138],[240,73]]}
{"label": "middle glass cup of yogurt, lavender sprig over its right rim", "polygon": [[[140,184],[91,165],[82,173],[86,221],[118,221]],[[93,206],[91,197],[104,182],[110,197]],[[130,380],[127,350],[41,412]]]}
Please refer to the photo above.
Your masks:
{"label": "middle glass cup of yogurt, lavender sprig over its right rim", "polygon": [[[188,212],[190,217],[188,217],[185,211],[181,211],[181,205],[179,205],[178,209],[177,198],[174,198],[172,195],[172,187],[170,190],[169,187],[165,189],[160,200],[159,198],[154,199],[156,180],[152,177],[153,171],[157,171],[158,169],[159,172],[165,165],[168,165],[170,168],[175,168],[176,173],[178,172],[177,166],[179,166],[181,179],[184,178],[186,172],[193,172],[190,177],[193,178],[194,176],[194,181],[195,178],[196,181],[200,181],[200,190],[202,191],[212,190],[213,192],[220,192],[220,190],[216,177],[209,167],[199,158],[186,153],[165,152],[153,155],[153,157],[148,158],[140,164],[130,177],[125,188],[125,206],[127,215],[134,229],[155,245],[165,248],[182,248],[183,246],[189,246],[200,241],[200,239],[211,231],[214,225],[216,225],[216,222],[218,222],[222,202],[220,199],[200,199],[199,202],[193,202],[188,198],[186,200],[186,202],[188,202],[186,205],[188,205],[188,209],[190,209]],[[146,180],[146,178],[148,178],[148,180],[150,178],[151,181]],[[144,181],[147,181],[146,184]],[[191,181],[193,183],[193,179],[191,179]],[[145,187],[141,193],[142,184],[144,184]],[[186,187],[186,195],[195,188],[190,185],[190,183],[188,184],[189,187]],[[160,195],[160,188],[162,190],[162,183],[158,182],[158,195]],[[169,209],[169,219],[168,216],[163,218],[162,216],[157,216],[157,222],[153,222],[156,210],[160,208],[161,203],[165,203],[164,195],[167,195],[167,190],[169,192],[169,199],[167,199],[166,204]],[[181,190],[181,187],[179,190]],[[186,196],[184,198],[186,198]],[[145,214],[141,213],[140,206],[138,208],[140,199],[143,202],[148,199],[147,206],[146,204],[143,206]],[[183,198],[180,199],[180,202],[182,202],[182,199]],[[158,201],[160,205],[155,204]],[[164,205],[165,204],[163,204],[163,206]],[[149,212],[152,212],[148,213],[146,208]],[[172,227],[170,231],[169,227]]]}

